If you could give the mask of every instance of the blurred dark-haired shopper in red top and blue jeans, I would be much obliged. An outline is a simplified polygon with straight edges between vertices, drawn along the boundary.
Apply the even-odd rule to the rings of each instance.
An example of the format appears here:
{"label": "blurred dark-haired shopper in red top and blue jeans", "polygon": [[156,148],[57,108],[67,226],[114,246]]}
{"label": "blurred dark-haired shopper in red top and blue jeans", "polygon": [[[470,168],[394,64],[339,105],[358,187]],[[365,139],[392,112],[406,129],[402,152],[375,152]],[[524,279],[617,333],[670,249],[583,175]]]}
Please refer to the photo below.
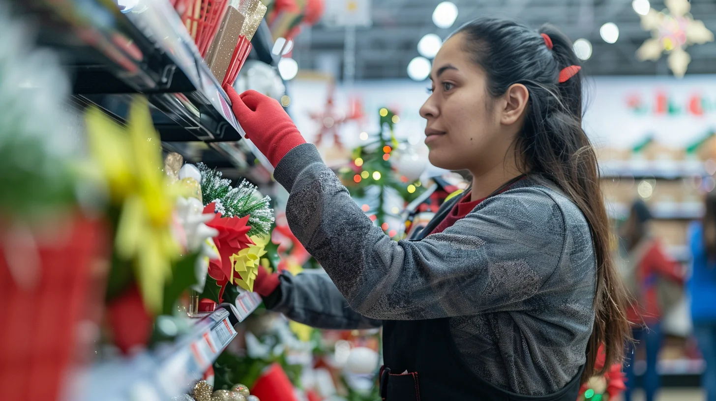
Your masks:
{"label": "blurred dark-haired shopper in red top and blue jeans", "polygon": [[652,213],[647,204],[637,200],[632,204],[629,218],[621,227],[620,241],[622,274],[624,284],[631,296],[627,317],[632,323],[634,343],[630,343],[624,359],[627,373],[627,391],[624,400],[632,399],[635,347],[644,347],[647,369],[644,372],[644,392],[647,401],[654,400],[659,390],[657,357],[663,334],[660,324],[664,308],[674,304],[682,296],[683,269],[667,256],[661,244],[654,238],[649,222]]}

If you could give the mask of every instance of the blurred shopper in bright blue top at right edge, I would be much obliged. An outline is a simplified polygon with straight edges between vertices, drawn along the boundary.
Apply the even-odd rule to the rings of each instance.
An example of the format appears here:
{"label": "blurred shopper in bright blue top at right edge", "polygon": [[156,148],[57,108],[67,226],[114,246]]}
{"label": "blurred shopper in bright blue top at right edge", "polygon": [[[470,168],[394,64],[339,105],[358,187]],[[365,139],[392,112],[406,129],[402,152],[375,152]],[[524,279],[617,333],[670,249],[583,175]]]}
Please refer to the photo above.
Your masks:
{"label": "blurred shopper in bright blue top at right edge", "polygon": [[706,198],[702,222],[690,227],[693,271],[689,281],[694,334],[706,361],[701,385],[716,401],[716,193]]}

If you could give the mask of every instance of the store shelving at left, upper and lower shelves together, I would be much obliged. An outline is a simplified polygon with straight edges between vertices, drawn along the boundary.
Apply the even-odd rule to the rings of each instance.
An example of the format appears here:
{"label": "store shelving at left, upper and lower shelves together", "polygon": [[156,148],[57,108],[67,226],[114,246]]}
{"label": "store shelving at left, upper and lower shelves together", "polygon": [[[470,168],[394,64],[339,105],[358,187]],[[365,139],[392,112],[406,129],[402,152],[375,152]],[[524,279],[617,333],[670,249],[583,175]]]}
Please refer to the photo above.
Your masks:
{"label": "store shelving at left, upper and lower shelves together", "polygon": [[[111,0],[27,0],[14,7],[36,22],[39,44],[54,49],[72,76],[70,107],[81,112],[95,105],[125,122],[132,95],[141,93],[165,150],[185,155],[193,151],[189,142],[205,142],[208,149],[195,159],[209,165],[242,168],[254,160],[251,148],[238,142],[243,130],[226,92],[167,0],[139,0],[129,10]],[[253,57],[271,58],[271,34],[265,21],[261,25]],[[67,399],[153,401],[183,394],[259,304],[260,296],[242,292],[235,304],[187,317],[190,332],[172,342],[128,358],[105,355],[72,380]]]}

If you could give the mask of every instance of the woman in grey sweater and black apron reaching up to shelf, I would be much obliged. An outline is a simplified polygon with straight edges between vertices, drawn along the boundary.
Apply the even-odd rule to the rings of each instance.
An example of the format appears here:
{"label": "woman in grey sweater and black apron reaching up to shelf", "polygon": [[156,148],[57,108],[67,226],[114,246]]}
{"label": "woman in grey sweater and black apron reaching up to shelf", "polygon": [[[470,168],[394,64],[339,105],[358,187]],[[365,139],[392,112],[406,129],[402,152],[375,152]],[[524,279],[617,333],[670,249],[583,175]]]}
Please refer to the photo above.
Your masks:
{"label": "woman in grey sweater and black apron reaching up to shelf", "polygon": [[606,366],[621,356],[628,325],[578,59],[563,34],[541,32],[478,19],[442,45],[425,142],[433,165],[473,183],[413,241],[373,225],[278,102],[226,88],[291,193],[291,230],[328,274],[267,279],[266,303],[314,327],[382,325],[388,401],[574,401],[599,344]]}

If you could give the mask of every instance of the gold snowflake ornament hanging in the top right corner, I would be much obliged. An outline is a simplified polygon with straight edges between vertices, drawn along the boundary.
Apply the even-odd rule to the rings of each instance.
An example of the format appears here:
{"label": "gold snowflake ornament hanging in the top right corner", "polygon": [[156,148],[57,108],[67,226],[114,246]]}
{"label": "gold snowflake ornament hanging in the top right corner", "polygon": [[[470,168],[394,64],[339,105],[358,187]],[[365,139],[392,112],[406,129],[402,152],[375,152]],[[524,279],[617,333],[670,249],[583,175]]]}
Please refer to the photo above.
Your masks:
{"label": "gold snowflake ornament hanging in the top right corner", "polygon": [[668,12],[649,9],[642,15],[642,28],[652,31],[652,39],[637,49],[637,57],[657,61],[662,53],[669,53],[667,62],[674,75],[681,78],[691,62],[686,48],[692,44],[713,42],[714,34],[689,13],[688,0],[666,0]]}

